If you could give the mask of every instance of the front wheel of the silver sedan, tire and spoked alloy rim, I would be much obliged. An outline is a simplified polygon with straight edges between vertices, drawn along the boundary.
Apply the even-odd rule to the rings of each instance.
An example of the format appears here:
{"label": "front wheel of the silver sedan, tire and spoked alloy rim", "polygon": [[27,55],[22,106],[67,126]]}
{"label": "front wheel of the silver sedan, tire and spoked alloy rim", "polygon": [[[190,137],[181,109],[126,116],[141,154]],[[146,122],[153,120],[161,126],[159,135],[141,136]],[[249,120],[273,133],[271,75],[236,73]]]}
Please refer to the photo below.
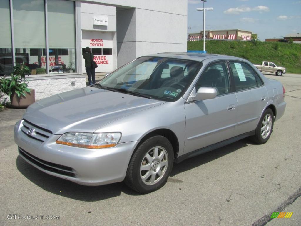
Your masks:
{"label": "front wheel of the silver sedan, tire and spoked alloy rim", "polygon": [[169,140],[163,136],[151,137],[135,150],[124,182],[139,193],[158,190],[166,184],[173,161],[173,148]]}

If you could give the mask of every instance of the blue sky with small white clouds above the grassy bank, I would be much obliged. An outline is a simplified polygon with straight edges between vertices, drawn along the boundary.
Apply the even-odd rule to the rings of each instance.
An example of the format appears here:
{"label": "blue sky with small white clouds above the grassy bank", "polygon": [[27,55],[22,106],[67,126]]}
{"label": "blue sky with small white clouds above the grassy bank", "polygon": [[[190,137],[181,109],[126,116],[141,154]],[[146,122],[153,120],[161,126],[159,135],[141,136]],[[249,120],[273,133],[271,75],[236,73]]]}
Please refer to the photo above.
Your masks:
{"label": "blue sky with small white clouds above the grassy bank", "polygon": [[[206,11],[206,30],[247,30],[262,41],[301,33],[300,0],[207,0],[208,7],[213,11]],[[188,0],[191,33],[203,30],[203,11],[196,8],[203,8],[203,2]]]}

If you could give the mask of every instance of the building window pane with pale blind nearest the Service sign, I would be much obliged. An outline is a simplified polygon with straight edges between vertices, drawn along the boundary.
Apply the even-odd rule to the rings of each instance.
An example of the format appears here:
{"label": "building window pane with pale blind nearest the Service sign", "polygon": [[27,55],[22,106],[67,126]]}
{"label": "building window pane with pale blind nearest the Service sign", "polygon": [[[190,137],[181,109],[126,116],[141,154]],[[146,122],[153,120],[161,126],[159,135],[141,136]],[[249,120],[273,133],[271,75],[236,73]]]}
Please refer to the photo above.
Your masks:
{"label": "building window pane with pale blind nearest the Service sign", "polygon": [[[50,74],[76,71],[75,6],[72,1],[48,0]],[[59,69],[57,69],[59,68]]]}

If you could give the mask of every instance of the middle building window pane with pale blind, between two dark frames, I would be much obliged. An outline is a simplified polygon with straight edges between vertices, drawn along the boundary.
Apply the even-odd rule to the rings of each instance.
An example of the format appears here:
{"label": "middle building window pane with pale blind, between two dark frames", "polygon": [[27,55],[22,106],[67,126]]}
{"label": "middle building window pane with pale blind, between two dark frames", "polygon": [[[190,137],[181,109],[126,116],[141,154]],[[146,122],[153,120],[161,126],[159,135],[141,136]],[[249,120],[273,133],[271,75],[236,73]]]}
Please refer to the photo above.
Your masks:
{"label": "middle building window pane with pale blind, between two dark frames", "polygon": [[[15,62],[25,63],[31,73],[45,74],[45,64],[41,61],[45,48],[45,7],[44,0],[14,0],[14,45]],[[33,50],[31,50],[33,49]],[[34,55],[30,53],[33,52]]]}

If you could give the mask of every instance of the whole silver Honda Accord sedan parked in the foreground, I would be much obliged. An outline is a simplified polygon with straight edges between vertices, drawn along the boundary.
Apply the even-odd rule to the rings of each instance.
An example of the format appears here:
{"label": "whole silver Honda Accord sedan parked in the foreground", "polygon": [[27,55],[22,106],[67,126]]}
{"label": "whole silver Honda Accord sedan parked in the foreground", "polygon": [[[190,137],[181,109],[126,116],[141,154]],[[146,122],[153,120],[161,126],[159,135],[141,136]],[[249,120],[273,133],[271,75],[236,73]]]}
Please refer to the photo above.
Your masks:
{"label": "whole silver Honda Accord sedan parked in the foreground", "polygon": [[250,137],[268,141],[285,90],[249,61],[159,53],[94,85],[30,105],[14,128],[20,156],[83,185],[162,187],[173,163]]}

